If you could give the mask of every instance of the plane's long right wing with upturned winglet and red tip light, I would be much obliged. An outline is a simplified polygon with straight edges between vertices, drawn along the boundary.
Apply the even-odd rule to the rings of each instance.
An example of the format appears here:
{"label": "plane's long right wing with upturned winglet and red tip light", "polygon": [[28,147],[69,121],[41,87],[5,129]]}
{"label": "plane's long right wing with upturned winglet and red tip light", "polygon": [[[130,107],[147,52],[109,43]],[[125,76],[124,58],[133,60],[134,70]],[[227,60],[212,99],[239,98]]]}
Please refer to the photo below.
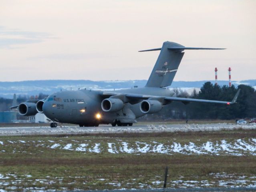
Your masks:
{"label": "plane's long right wing with upturned winglet and red tip light", "polygon": [[142,100],[147,100],[147,99],[164,99],[166,101],[180,101],[184,103],[188,102],[206,102],[206,103],[220,103],[220,104],[234,104],[236,103],[236,100],[238,98],[238,95],[240,93],[240,89],[234,96],[232,101],[216,101],[216,100],[205,100],[205,99],[192,99],[192,98],[180,98],[180,97],[164,97],[164,96],[150,96],[150,95],[141,95],[141,94],[126,94],[125,96],[130,99],[142,99]]}

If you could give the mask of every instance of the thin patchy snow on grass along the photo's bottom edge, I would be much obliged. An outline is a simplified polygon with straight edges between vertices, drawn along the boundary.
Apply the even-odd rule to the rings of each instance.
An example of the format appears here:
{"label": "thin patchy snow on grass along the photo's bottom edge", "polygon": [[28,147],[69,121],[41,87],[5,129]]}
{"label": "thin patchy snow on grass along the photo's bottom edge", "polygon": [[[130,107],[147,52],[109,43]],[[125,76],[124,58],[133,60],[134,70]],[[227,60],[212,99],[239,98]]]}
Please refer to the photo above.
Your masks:
{"label": "thin patchy snow on grass along the photo's bottom edge", "polygon": [[[8,174],[10,175],[10,174]],[[191,178],[194,178],[194,180],[186,180],[183,176],[179,178],[179,180],[172,180],[169,178],[167,180],[167,186],[171,188],[204,188],[204,187],[228,187],[228,188],[238,188],[238,187],[249,187],[249,188],[255,188],[256,187],[256,180],[255,176],[248,176],[243,174],[228,174],[225,172],[222,173],[210,173],[206,175],[208,180],[200,180],[196,179],[198,176],[192,175]],[[130,186],[136,186],[137,189],[140,188],[162,188],[163,186],[163,180],[159,179],[162,176],[155,176],[155,178],[151,178],[148,181],[145,182],[137,182],[137,179],[129,179],[127,180],[127,183],[119,182],[118,180],[115,180],[113,178],[97,178],[97,180],[102,182],[105,182],[107,185],[116,186],[116,189],[123,188],[124,186],[126,188],[130,188]],[[69,178],[86,178],[86,177],[71,177]],[[0,184],[2,186],[6,186],[5,190],[7,191],[15,191],[17,184],[22,184],[23,182],[28,183],[31,182],[31,184],[37,186],[38,183],[42,185],[41,187],[33,187],[33,188],[26,188],[24,187],[24,191],[52,191],[52,190],[44,190],[44,185],[49,186],[49,184],[53,183],[62,183],[64,181],[63,177],[54,177],[50,178],[50,176],[46,176],[45,178],[40,179],[34,179],[30,175],[18,175],[13,177],[7,177],[0,173]],[[74,182],[68,183],[68,184],[74,184]],[[26,185],[24,185],[26,186]],[[1,191],[0,191],[1,192]]]}

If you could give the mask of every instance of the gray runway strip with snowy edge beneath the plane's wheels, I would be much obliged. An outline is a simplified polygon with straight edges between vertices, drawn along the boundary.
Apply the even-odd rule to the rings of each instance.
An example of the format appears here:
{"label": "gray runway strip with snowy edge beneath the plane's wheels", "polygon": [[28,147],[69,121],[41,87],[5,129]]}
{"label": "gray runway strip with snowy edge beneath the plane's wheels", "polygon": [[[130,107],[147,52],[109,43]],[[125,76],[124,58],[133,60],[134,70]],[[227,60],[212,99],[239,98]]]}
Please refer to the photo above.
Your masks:
{"label": "gray runway strip with snowy edge beneath the plane's wheels", "polygon": [[172,124],[172,125],[134,125],[134,126],[99,126],[99,127],[79,127],[79,126],[17,126],[1,127],[0,136],[6,135],[31,135],[31,134],[81,134],[81,133],[120,133],[120,132],[182,132],[182,131],[212,131],[221,129],[256,129],[256,124],[236,125],[236,124]]}

